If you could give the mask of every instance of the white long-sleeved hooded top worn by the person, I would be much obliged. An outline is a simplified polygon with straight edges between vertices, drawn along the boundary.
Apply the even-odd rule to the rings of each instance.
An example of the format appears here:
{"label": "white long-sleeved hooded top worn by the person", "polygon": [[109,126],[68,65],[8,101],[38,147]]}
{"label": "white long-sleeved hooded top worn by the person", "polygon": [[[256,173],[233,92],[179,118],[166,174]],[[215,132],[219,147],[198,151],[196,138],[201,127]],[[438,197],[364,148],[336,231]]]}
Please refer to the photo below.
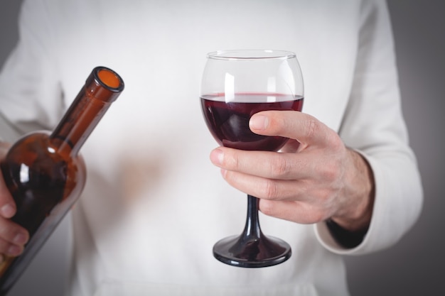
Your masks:
{"label": "white long-sleeved hooded top worn by the person", "polygon": [[[417,219],[422,188],[383,1],[33,0],[20,33],[0,78],[7,140],[6,123],[52,129],[97,65],[126,83],[82,148],[69,295],[345,296],[340,254],[391,246]],[[289,261],[244,269],[213,258],[215,241],[242,230],[246,198],[208,160],[217,145],[199,84],[205,54],[233,48],[296,52],[304,112],[370,162],[375,207],[357,248],[337,246],[324,224],[262,215],[264,233],[291,244]]]}

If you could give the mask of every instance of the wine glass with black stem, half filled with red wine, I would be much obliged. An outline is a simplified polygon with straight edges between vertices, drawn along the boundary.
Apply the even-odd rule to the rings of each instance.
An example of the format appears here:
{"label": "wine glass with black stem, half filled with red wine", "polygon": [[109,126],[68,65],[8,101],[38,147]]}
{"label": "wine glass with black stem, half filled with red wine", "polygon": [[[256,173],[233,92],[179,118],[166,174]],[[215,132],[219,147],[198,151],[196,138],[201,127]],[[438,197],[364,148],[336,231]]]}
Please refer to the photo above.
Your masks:
{"label": "wine glass with black stem, half filled with red wine", "polygon": [[[250,117],[264,110],[301,111],[303,98],[303,77],[294,53],[223,50],[207,55],[200,102],[205,122],[222,146],[278,151],[289,139],[253,133]],[[233,266],[259,268],[290,258],[288,243],[262,234],[258,203],[257,197],[247,195],[245,229],[215,243],[216,259]]]}

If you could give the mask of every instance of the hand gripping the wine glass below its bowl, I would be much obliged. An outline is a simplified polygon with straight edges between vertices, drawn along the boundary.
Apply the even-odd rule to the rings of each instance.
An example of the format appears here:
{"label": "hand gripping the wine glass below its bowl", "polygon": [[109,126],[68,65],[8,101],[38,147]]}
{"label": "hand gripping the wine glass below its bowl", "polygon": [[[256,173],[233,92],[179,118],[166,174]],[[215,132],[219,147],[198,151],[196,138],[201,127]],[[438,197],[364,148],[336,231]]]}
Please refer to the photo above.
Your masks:
{"label": "hand gripping the wine glass below its bowl", "polygon": [[281,153],[220,147],[210,159],[230,185],[259,197],[264,214],[301,224],[333,219],[349,231],[368,227],[372,171],[335,131],[298,111],[259,112],[250,129],[289,141]]}

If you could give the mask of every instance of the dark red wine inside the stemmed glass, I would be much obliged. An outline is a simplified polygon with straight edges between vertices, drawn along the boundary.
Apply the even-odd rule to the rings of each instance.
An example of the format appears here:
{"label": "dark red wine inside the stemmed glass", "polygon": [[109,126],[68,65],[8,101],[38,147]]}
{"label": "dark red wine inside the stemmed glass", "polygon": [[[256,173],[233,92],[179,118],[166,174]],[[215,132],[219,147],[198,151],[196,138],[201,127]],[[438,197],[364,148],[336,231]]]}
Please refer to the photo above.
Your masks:
{"label": "dark red wine inside the stemmed glass", "polygon": [[[274,97],[274,101],[267,102]],[[235,94],[232,102],[223,96],[203,96],[201,106],[205,122],[220,145],[241,150],[277,151],[288,138],[261,136],[250,131],[250,117],[265,110],[301,111],[304,98],[284,94]]]}

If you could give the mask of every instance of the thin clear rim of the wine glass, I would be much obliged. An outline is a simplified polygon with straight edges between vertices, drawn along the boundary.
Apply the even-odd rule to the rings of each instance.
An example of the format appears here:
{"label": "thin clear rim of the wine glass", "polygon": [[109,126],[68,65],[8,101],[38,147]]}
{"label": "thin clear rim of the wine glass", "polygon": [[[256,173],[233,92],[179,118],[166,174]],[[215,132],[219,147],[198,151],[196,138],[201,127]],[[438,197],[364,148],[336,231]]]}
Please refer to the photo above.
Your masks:
{"label": "thin clear rim of the wine glass", "polygon": [[287,60],[296,57],[287,50],[217,50],[207,54],[213,60]]}

